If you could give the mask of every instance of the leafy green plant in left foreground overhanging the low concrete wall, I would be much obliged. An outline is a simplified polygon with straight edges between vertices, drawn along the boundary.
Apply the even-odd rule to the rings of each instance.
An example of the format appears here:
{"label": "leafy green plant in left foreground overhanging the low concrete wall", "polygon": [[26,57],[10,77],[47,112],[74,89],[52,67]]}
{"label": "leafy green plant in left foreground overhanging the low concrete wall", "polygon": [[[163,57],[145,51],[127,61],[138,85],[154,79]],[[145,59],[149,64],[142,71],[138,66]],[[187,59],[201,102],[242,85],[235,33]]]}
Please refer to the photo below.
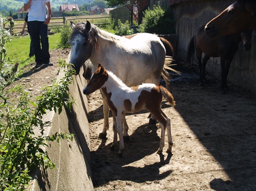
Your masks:
{"label": "leafy green plant in left foreground overhanging the low concrete wall", "polygon": [[[0,74],[3,66],[8,64],[6,59],[5,44],[9,42],[9,33],[5,30],[8,22],[1,18],[1,41],[0,41]],[[61,139],[73,139],[70,133],[55,133],[51,136],[44,136],[46,124],[42,121],[42,116],[47,110],[54,110],[60,113],[62,107],[71,108],[74,103],[70,99],[69,85],[73,82],[73,69],[68,67],[65,60],[59,60],[60,67],[63,68],[65,76],[51,87],[42,90],[41,96],[36,98],[36,102],[30,101],[28,92],[20,89],[20,98],[17,103],[10,103],[5,92],[5,87],[12,82],[15,75],[11,75],[8,81],[0,81],[0,190],[24,190],[31,179],[29,173],[41,166],[44,169],[55,168],[54,163],[49,158],[45,147],[50,146],[50,142]],[[40,128],[41,134],[34,133],[35,128]]]}

